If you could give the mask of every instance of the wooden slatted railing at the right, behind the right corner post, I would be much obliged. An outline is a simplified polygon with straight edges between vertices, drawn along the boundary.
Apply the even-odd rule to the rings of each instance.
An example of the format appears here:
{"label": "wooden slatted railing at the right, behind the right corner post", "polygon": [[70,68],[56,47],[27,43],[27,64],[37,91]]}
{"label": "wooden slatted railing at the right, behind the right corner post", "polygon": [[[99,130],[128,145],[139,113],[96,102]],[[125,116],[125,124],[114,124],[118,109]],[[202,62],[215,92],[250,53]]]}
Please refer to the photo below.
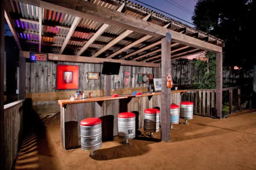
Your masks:
{"label": "wooden slatted railing at the right, behind the right corner post", "polygon": [[[237,109],[240,109],[241,88],[231,87],[223,88],[222,91],[229,91],[229,113],[232,113],[233,90],[237,89]],[[201,116],[216,116],[215,101],[216,89],[195,89],[187,90],[187,93],[181,96],[181,101],[194,102],[194,113]]]}

